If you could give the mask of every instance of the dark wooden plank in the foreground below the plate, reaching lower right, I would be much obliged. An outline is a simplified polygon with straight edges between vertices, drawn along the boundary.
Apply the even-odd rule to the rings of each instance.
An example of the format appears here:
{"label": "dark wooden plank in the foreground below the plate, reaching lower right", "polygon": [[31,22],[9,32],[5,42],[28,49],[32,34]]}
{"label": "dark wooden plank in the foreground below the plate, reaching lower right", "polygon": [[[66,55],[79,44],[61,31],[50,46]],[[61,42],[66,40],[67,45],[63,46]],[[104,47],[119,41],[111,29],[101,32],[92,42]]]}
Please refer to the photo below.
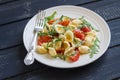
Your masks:
{"label": "dark wooden plank in the foreground below the plate, reaching lower right", "polygon": [[48,67],[44,71],[36,70],[8,80],[111,80],[120,76],[120,46],[110,48],[97,61],[75,69],[56,69]]}

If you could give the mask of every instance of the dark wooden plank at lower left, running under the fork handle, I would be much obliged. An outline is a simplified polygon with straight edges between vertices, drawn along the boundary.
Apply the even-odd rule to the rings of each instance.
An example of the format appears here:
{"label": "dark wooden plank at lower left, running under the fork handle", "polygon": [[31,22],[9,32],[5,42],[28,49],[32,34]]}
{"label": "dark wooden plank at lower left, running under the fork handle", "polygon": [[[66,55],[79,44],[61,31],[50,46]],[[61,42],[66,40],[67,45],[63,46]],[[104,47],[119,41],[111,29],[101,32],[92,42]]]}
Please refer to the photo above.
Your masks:
{"label": "dark wooden plank at lower left, running under the fork handle", "polygon": [[24,46],[0,51],[0,80],[28,71],[37,70],[38,68],[42,70],[46,67],[40,63],[38,64],[37,61],[30,66],[25,66],[23,60],[26,53]]}

